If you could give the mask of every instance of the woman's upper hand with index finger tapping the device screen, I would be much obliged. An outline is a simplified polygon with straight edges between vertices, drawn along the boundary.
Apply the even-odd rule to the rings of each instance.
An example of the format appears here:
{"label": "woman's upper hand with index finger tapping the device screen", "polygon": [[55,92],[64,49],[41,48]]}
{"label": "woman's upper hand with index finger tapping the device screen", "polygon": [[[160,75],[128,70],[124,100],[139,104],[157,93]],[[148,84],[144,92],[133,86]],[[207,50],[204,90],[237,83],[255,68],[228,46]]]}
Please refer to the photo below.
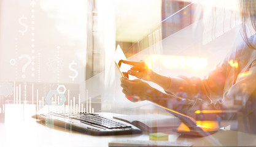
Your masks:
{"label": "woman's upper hand with index finger tapping the device screen", "polygon": [[144,61],[126,61],[126,60],[120,60],[118,62],[118,65],[121,66],[121,63],[129,64],[133,67],[131,67],[130,70],[128,70],[128,74],[133,75],[137,78],[141,78],[145,81],[152,81],[155,72],[147,66],[147,64]]}

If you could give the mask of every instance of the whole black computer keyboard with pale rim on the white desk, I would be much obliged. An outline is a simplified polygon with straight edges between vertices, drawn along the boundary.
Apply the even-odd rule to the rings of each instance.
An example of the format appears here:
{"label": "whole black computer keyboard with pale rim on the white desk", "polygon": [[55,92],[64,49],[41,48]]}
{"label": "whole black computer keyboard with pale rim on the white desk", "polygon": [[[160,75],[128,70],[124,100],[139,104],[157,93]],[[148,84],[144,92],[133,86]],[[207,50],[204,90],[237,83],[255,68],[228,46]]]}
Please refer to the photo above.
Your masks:
{"label": "whole black computer keyboard with pale rim on the white desk", "polygon": [[141,134],[142,131],[132,124],[114,118],[106,118],[97,113],[43,113],[35,115],[46,124],[76,130],[89,135],[128,135]]}

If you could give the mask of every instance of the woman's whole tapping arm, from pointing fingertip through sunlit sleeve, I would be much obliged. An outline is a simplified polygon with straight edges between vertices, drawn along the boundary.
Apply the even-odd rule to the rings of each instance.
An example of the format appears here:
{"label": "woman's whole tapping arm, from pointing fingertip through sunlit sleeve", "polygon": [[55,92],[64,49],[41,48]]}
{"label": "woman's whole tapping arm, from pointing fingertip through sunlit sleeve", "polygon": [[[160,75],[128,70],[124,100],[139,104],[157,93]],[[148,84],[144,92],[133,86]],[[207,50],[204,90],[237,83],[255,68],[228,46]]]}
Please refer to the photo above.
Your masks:
{"label": "woman's whole tapping arm, from pointing fingertip through sunlit sleeve", "polygon": [[185,92],[188,99],[195,99],[196,94],[203,95],[204,98],[211,102],[212,97],[220,97],[223,93],[227,74],[227,59],[217,66],[215,70],[205,79],[198,77],[177,77],[170,78],[165,75],[160,75],[150,69],[143,61],[121,61],[125,64],[130,64],[133,67],[128,71],[128,74],[134,75],[145,81],[153,81],[165,89],[168,94],[176,94],[177,91]]}

